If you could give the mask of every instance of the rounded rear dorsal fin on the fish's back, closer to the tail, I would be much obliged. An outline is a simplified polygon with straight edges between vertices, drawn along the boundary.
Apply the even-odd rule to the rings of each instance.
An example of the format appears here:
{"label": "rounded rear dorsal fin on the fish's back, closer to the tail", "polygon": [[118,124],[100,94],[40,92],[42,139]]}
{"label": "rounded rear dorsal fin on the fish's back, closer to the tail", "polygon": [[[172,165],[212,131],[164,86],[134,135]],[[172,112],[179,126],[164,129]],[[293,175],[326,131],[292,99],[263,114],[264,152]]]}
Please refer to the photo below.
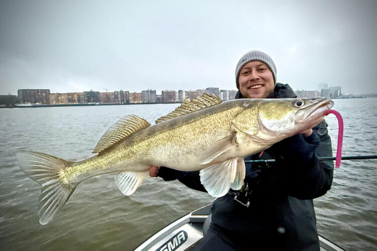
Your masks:
{"label": "rounded rear dorsal fin on the fish's back, closer to the tail", "polygon": [[101,153],[108,147],[149,126],[150,123],[141,117],[136,115],[124,116],[106,131],[93,153]]}

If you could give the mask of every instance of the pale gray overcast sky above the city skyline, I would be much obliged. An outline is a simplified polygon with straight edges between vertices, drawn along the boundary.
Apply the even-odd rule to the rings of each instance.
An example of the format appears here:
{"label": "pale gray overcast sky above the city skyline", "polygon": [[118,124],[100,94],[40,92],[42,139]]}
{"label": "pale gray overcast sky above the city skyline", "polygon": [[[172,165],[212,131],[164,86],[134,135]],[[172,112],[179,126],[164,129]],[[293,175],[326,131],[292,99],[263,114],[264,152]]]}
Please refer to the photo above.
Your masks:
{"label": "pale gray overcast sky above the city skyline", "polygon": [[0,94],[236,89],[254,49],[294,90],[377,93],[376,13],[375,0],[0,0]]}

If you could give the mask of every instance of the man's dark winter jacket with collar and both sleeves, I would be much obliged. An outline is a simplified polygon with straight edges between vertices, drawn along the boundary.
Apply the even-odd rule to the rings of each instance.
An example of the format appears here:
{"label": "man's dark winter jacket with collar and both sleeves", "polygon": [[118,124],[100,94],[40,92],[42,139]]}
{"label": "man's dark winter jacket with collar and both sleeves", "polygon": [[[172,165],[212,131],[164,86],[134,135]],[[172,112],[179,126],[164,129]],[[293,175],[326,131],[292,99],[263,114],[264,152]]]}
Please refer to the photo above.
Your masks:
{"label": "man's dark winter jacket with collar and both sleeves", "polygon": [[[296,97],[289,85],[276,83],[268,98]],[[236,98],[242,98],[238,92]],[[253,190],[246,207],[227,194],[214,201],[210,230],[239,249],[319,250],[313,199],[331,187],[333,162],[327,124],[322,121],[309,137],[295,135],[245,158],[275,159],[268,167],[246,164],[245,182]],[[199,171],[183,172],[161,167],[158,176],[178,179],[187,187],[206,191]]]}

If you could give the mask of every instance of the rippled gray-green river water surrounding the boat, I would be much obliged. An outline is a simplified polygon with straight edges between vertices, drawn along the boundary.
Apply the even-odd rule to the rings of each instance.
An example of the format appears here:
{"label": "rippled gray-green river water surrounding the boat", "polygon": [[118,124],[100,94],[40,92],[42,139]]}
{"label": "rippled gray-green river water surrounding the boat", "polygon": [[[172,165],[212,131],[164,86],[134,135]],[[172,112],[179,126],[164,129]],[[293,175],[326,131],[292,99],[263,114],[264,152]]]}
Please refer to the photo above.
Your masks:
{"label": "rippled gray-green river water surrounding the boat", "polygon": [[[335,99],[344,119],[343,156],[376,154],[377,98]],[[39,185],[19,169],[25,150],[80,160],[119,118],[150,123],[179,104],[0,109],[0,246],[2,250],[133,250],[172,220],[213,198],[179,182],[148,178],[130,197],[114,174],[82,182],[47,225],[38,222]],[[335,156],[337,119],[326,117]],[[377,248],[377,160],[343,161],[332,189],[315,199],[318,231],[347,250]]]}

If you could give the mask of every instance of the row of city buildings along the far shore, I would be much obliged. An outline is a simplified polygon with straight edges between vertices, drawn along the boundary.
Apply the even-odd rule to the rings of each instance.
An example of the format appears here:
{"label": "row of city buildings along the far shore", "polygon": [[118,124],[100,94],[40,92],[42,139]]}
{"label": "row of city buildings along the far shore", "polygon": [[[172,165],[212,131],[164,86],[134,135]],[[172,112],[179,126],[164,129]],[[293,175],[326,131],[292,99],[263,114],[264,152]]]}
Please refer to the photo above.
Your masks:
{"label": "row of city buildings along the far shore", "polygon": [[[204,93],[218,96],[222,101],[234,99],[238,90],[223,90],[218,87],[207,87],[198,90],[162,90],[157,94],[155,89],[132,92],[126,90],[106,92],[96,90],[83,92],[54,93],[50,89],[18,89],[18,95],[0,95],[0,108],[22,106],[60,106],[89,104],[142,104],[142,103],[182,103],[193,100]],[[376,94],[342,93],[341,86],[328,86],[321,83],[317,90],[296,90],[298,98],[330,97],[360,98],[377,97]]]}

